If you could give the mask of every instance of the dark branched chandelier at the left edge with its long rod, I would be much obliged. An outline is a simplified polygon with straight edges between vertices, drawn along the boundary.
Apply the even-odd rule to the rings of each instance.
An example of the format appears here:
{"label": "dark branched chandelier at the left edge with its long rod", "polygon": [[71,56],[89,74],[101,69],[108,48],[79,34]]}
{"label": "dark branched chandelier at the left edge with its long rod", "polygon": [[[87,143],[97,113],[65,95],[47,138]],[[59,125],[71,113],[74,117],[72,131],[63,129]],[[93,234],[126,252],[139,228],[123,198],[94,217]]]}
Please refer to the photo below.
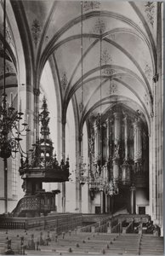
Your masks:
{"label": "dark branched chandelier at the left edge with its long rod", "polygon": [[[6,0],[3,1],[3,99],[0,106],[0,157],[4,161],[4,202],[5,213],[8,212],[8,164],[10,156],[16,157],[16,153],[26,154],[20,146],[20,138],[26,136],[30,131],[26,121],[20,128],[20,120],[24,113],[14,109],[13,102],[11,106],[7,101],[6,94]],[[13,98],[13,97],[12,97]],[[22,132],[25,131],[23,134]]]}

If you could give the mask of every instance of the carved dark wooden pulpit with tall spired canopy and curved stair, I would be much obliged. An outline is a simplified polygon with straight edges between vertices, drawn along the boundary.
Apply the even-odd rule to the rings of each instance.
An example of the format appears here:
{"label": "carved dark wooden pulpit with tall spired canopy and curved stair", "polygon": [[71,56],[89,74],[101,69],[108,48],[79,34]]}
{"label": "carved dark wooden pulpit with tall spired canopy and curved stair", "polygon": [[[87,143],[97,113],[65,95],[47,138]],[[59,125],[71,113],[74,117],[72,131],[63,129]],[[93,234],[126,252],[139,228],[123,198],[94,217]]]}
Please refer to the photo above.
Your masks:
{"label": "carved dark wooden pulpit with tall spired canopy and curved stair", "polygon": [[60,183],[69,180],[69,159],[60,164],[53,154],[53,143],[49,138],[48,105],[43,97],[43,111],[39,114],[41,137],[33,144],[31,161],[20,159],[20,176],[23,179],[24,198],[20,199],[13,214],[17,217],[39,216],[41,213],[55,211],[55,195],[60,190],[45,192],[43,183]]}

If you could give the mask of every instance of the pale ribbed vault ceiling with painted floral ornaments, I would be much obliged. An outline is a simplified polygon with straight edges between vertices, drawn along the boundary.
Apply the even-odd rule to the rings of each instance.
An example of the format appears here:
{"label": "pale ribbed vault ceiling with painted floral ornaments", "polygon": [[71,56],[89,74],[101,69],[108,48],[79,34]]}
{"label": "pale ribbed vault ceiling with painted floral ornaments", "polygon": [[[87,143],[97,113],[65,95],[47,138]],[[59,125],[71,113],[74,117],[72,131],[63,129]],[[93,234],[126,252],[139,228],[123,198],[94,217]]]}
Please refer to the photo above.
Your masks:
{"label": "pale ribbed vault ceiling with painted floral ornaments", "polygon": [[[28,65],[37,76],[36,87],[46,61],[54,61],[54,86],[60,90],[64,118],[71,100],[79,121],[97,114],[100,102],[105,113],[117,101],[134,111],[139,109],[146,120],[150,118],[156,74],[156,4],[84,1],[82,6],[80,1],[11,1],[15,20],[21,21],[18,29],[24,50],[32,62]],[[11,34],[14,38],[14,31]],[[11,42],[14,48],[15,38]],[[2,58],[1,49],[0,63]],[[9,62],[13,71],[8,83],[14,84],[14,58]],[[3,84],[1,76],[0,82]]]}

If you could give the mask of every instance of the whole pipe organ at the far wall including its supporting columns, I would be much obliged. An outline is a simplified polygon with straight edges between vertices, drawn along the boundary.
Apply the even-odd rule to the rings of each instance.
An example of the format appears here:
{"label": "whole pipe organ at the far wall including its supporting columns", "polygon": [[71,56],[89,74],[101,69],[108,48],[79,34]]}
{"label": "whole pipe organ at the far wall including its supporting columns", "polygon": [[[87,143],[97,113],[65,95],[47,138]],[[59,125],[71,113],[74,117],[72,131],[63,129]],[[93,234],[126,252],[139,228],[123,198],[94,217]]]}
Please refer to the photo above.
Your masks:
{"label": "whole pipe organ at the far wall including its supporting columns", "polygon": [[[143,190],[149,200],[149,148],[147,125],[139,113],[129,113],[127,109],[121,111],[122,106],[112,108],[105,117],[96,116],[94,122],[89,120],[90,130],[90,175],[89,190],[96,193],[103,189],[101,209],[110,212],[111,193],[113,188],[104,186],[111,182],[117,185],[117,204],[123,200],[128,204],[129,211],[135,212],[135,201],[129,205],[129,194],[132,189]],[[100,139],[101,138],[101,139]],[[98,183],[96,183],[98,180]],[[93,182],[93,183],[92,183]],[[94,183],[95,187],[94,187]],[[134,184],[133,187],[131,187]],[[99,188],[98,188],[99,185]],[[102,188],[101,188],[102,186]],[[107,191],[108,189],[108,191]],[[122,191],[122,201],[119,190]],[[130,191],[129,191],[130,190]],[[106,200],[104,199],[106,197]],[[125,198],[124,198],[125,197]],[[105,202],[103,202],[105,201]],[[134,209],[134,210],[133,210]],[[140,209],[139,209],[140,210]]]}

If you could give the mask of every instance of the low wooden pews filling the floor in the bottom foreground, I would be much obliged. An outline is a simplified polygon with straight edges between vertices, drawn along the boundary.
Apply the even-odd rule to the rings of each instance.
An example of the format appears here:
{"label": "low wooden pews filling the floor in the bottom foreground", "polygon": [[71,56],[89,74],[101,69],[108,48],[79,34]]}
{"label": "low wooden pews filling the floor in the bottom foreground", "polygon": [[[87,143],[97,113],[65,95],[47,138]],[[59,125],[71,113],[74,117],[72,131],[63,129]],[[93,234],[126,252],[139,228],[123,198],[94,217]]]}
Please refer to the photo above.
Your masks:
{"label": "low wooden pews filling the floor in the bottom foreground", "polygon": [[147,234],[3,230],[0,241],[0,254],[163,255],[163,238]]}

